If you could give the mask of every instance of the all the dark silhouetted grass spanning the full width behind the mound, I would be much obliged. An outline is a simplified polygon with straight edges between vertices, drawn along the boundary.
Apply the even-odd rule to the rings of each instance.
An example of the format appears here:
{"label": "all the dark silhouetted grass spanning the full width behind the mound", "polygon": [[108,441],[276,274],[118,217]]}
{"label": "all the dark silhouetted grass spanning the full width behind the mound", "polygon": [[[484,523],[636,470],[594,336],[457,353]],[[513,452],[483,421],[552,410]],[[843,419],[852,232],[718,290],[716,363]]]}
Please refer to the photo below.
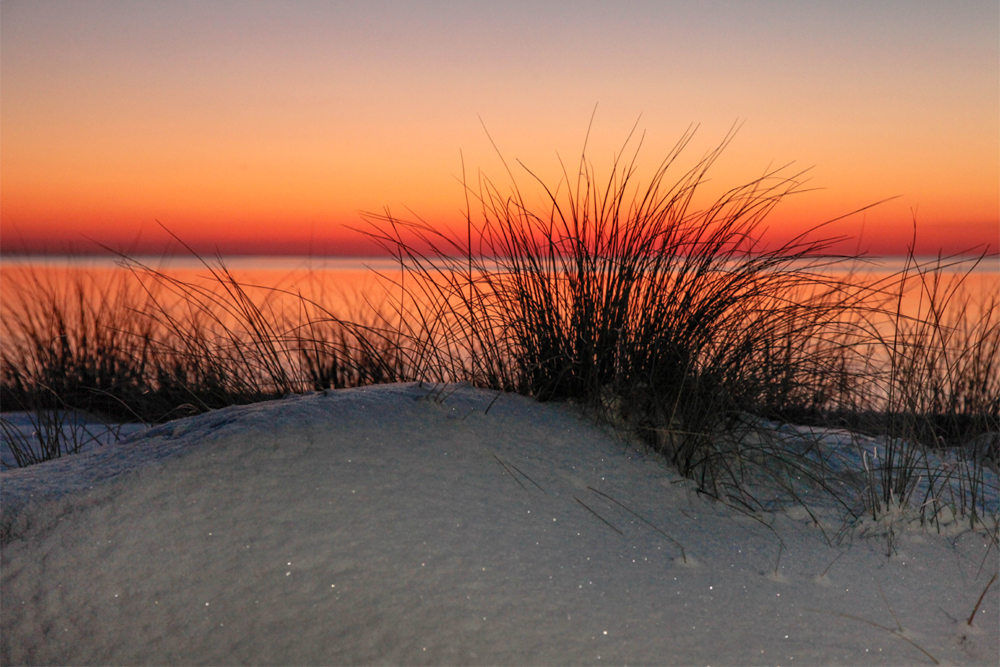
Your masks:
{"label": "all the dark silhouetted grass spanning the full width behind the mound", "polygon": [[[706,199],[731,138],[680,168],[685,134],[644,183],[628,141],[603,178],[586,150],[554,184],[505,163],[506,185],[464,184],[464,234],[367,215],[399,271],[382,276],[383,302],[349,316],[242,283],[221,257],[202,260],[208,285],[125,256],[103,282],[26,271],[2,304],[3,408],[40,424],[67,408],[155,423],[313,390],[467,382],[579,403],[748,512],[808,505],[819,489],[853,519],[912,503],[930,524],[946,511],[981,521],[983,466],[998,458],[1000,304],[964,291],[976,260],[911,252],[873,279],[851,271],[863,258],[830,252],[838,239],[822,226],[775,243],[766,220],[803,191],[802,174]],[[845,485],[801,437],[776,435],[784,423],[883,444]],[[960,458],[932,468],[925,452],[942,447]]]}

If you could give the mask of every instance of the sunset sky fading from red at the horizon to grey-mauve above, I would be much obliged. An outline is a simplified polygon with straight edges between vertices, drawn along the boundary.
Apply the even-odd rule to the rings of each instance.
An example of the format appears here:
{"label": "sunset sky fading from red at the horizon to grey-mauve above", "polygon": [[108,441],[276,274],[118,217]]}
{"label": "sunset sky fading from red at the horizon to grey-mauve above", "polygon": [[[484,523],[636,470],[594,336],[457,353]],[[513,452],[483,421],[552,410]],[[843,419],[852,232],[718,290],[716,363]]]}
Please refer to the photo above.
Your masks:
{"label": "sunset sky fading from red at the horizon to grey-mauve above", "polygon": [[[996,0],[0,3],[0,249],[369,254],[387,207],[454,225],[470,180],[648,175],[734,123],[713,187],[812,168],[771,219],[850,250],[1000,246]],[[480,121],[481,119],[481,121]],[[412,211],[411,214],[409,211]]]}

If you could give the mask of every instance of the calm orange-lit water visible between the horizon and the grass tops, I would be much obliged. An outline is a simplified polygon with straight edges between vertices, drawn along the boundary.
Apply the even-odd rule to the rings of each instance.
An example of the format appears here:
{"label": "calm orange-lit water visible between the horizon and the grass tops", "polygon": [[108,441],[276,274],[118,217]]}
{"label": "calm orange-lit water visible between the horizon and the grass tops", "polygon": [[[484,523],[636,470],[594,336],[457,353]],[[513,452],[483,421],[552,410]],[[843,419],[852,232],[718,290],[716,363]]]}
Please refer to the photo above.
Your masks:
{"label": "calm orange-lit water visible between the horizon and the grass tops", "polygon": [[[218,293],[220,286],[204,264],[191,257],[139,257],[137,261],[161,276],[183,281],[188,286]],[[931,265],[932,260],[921,260]],[[217,268],[217,264],[210,262]],[[853,263],[825,270],[831,278],[852,282],[885,279],[897,275],[904,266],[901,259],[878,263]],[[313,319],[326,315],[372,323],[373,307],[391,313],[400,289],[398,263],[391,258],[315,258],[315,257],[232,257],[225,267],[233,278],[246,286],[247,293],[262,311],[285,322],[302,321],[305,314]],[[1000,258],[990,257],[972,268],[971,262],[941,272],[943,284],[955,281],[961,272],[970,271],[963,284],[963,298],[970,299],[966,315],[975,315],[977,304],[1000,295]],[[28,303],[38,293],[37,285],[63,295],[83,285],[88,298],[127,302],[139,307],[148,298],[143,285],[165,304],[180,303],[178,287],[153,278],[153,273],[136,270],[130,275],[118,260],[107,257],[5,257],[0,259],[0,302],[9,311],[12,304],[27,297]],[[412,284],[412,283],[411,283]],[[903,311],[926,313],[927,295],[919,282],[911,281]],[[185,289],[190,289],[185,288]],[[389,292],[387,293],[387,290]],[[303,302],[298,295],[308,301]],[[893,309],[895,308],[892,306]],[[996,314],[994,314],[996,316]],[[7,327],[0,327],[8,334]]]}

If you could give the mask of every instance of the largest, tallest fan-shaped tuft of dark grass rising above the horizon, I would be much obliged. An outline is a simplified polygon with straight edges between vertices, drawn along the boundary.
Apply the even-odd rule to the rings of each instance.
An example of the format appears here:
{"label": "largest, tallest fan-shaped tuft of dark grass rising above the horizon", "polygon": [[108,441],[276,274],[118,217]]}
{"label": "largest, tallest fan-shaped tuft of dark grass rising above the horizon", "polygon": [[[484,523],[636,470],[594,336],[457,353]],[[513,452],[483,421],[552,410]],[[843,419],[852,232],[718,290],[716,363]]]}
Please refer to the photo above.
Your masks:
{"label": "largest, tallest fan-shaped tuft of dark grass rising above the horizon", "polygon": [[731,136],[674,176],[690,138],[644,185],[634,154],[601,180],[584,150],[555,186],[525,168],[540,207],[509,168],[509,191],[467,185],[479,214],[464,237],[389,214],[369,215],[369,233],[400,262],[399,321],[433,342],[430,379],[584,402],[704,492],[751,504],[719,436],[747,414],[815,408],[818,384],[838,380],[835,341],[818,341],[861,297],[824,277],[840,261],[831,239],[765,244],[765,218],[801,174],[771,171],[695,207]]}

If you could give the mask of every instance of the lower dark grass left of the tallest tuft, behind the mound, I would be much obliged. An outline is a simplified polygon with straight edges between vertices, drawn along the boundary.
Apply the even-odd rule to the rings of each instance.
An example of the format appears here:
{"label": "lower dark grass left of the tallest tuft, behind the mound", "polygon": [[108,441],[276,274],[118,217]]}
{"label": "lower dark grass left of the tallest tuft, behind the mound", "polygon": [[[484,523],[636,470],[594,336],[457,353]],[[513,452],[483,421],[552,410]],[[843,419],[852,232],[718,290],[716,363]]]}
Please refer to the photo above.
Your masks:
{"label": "lower dark grass left of the tallest tuft, behind the mound", "polygon": [[[121,258],[113,271],[6,274],[0,318],[3,422],[25,466],[75,453],[99,437],[80,412],[108,423],[157,423],[290,393],[409,379],[384,318],[354,321],[299,292],[244,285],[221,258],[190,282]],[[365,324],[370,322],[370,324]],[[374,326],[378,324],[379,326]],[[89,429],[89,430],[88,430]],[[107,430],[107,429],[105,429]]]}

